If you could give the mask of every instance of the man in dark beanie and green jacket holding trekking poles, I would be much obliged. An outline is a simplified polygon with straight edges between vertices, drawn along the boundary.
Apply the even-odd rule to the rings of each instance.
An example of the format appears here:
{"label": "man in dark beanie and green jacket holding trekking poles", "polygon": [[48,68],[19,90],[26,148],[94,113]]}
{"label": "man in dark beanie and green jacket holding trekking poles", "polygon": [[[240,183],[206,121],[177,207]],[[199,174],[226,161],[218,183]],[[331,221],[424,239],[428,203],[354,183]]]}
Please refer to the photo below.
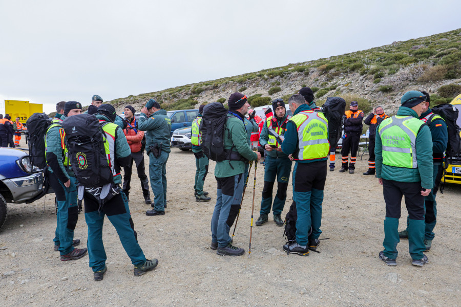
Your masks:
{"label": "man in dark beanie and green jacket holding trekking poles", "polygon": [[[218,182],[218,191],[215,209],[211,222],[212,243],[211,249],[218,255],[240,256],[245,250],[232,245],[229,230],[239,211],[243,193],[243,177],[246,160],[259,160],[259,152],[253,152],[248,145],[248,137],[243,122],[243,114],[248,111],[249,104],[246,96],[234,93],[228,100],[229,112],[226,118],[223,143],[225,150],[232,150],[230,160],[218,161],[215,167],[215,177]],[[229,225],[230,224],[230,225]]]}

